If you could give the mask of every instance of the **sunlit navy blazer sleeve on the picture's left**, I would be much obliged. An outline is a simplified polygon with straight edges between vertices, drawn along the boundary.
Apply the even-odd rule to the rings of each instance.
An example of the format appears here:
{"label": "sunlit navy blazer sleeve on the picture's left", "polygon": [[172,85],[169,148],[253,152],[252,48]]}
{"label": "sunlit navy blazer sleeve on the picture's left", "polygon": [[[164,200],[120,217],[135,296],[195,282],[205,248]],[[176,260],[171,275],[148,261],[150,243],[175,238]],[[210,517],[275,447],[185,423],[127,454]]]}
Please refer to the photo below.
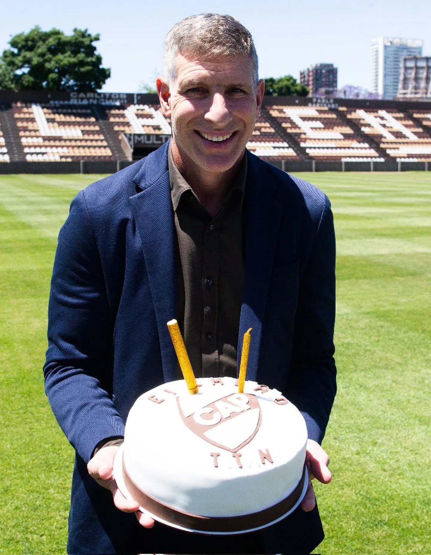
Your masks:
{"label": "sunlit navy blazer sleeve on the picture's left", "polygon": [[81,191],[58,236],[43,373],[54,415],[86,462],[104,438],[124,435],[109,394],[112,333],[101,258]]}

